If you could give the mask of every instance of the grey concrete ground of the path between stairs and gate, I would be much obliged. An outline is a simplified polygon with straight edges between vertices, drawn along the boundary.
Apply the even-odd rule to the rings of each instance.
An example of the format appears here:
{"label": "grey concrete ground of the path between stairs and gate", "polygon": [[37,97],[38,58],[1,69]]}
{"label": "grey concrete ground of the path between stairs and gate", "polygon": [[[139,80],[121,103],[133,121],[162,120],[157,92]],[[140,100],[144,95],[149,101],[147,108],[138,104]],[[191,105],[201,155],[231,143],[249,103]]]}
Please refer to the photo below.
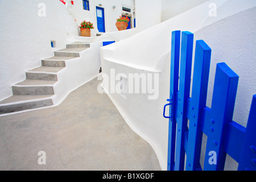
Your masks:
{"label": "grey concrete ground of the path between stairs and gate", "polygon": [[160,170],[150,144],[97,92],[99,82],[59,106],[0,117],[0,170]]}

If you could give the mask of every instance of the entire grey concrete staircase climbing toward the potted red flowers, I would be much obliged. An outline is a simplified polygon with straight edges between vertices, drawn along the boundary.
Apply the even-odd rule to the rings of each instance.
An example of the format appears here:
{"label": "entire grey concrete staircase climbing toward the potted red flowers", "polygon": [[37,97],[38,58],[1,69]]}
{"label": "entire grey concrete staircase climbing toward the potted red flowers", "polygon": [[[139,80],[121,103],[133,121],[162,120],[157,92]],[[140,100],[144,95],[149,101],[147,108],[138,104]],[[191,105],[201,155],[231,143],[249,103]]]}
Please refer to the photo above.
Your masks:
{"label": "entire grey concrete staircase climbing toward the potted red flowers", "polygon": [[26,80],[12,86],[13,96],[0,102],[0,114],[52,106],[57,73],[65,68],[65,61],[80,57],[90,44],[75,42],[42,60],[41,67],[26,71]]}

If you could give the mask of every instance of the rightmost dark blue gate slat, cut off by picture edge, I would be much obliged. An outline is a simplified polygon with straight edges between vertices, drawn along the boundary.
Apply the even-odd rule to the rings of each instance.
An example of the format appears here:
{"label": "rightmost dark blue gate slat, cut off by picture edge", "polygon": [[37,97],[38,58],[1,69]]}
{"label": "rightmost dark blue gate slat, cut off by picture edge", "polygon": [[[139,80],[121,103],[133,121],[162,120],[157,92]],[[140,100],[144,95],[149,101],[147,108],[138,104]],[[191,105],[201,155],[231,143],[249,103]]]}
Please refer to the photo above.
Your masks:
{"label": "rightmost dark blue gate slat, cut off by picture edge", "polygon": [[256,171],[256,95],[251,102],[238,170]]}

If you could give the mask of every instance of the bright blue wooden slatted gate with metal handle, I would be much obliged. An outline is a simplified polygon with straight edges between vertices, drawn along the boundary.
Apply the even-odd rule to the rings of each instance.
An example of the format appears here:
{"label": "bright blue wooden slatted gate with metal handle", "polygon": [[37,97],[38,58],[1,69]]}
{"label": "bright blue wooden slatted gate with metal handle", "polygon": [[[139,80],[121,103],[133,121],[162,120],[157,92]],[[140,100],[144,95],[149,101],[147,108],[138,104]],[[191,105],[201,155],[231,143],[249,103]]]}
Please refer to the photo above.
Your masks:
{"label": "bright blue wooden slatted gate with metal handle", "polygon": [[[226,154],[239,163],[238,170],[256,170],[256,94],[247,127],[232,121],[238,75],[225,63],[218,63],[212,106],[207,107],[211,49],[203,40],[197,40],[192,96],[189,97],[192,52],[193,34],[172,32],[170,99],[163,113],[169,118],[167,170],[202,169],[203,133],[207,135],[204,170],[224,170]],[[168,105],[169,115],[166,116]]]}

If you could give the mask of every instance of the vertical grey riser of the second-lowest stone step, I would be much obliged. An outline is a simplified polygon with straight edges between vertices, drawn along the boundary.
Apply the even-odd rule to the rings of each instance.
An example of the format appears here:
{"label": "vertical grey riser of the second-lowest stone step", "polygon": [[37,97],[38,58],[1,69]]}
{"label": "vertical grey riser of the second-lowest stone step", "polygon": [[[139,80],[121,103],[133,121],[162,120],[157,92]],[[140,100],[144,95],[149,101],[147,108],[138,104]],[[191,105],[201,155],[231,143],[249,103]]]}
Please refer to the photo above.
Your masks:
{"label": "vertical grey riser of the second-lowest stone step", "polygon": [[13,94],[14,95],[53,95],[53,86],[20,86],[14,85]]}

